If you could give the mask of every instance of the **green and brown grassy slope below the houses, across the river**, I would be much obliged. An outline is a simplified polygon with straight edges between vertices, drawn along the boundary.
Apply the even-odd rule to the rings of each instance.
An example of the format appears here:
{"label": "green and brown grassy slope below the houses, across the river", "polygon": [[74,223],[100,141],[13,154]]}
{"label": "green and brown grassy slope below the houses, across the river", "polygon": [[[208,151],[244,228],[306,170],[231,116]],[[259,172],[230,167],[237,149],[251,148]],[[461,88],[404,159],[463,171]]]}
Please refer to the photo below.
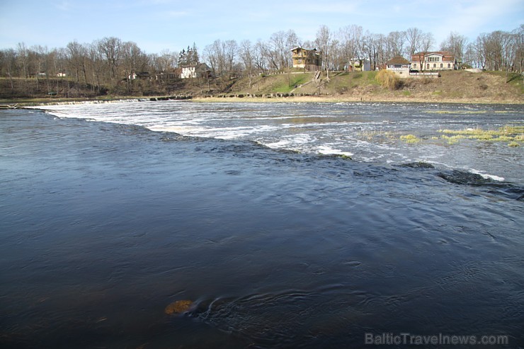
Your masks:
{"label": "green and brown grassy slope below the houses, across the river", "polygon": [[[293,96],[278,98],[278,93]],[[323,72],[316,80],[312,73],[284,72],[257,76],[251,84],[240,79],[229,91],[213,96],[198,100],[524,103],[524,84],[520,74],[500,71],[442,71],[438,79],[400,79],[394,88],[382,86],[376,71],[330,73],[329,79]]]}

